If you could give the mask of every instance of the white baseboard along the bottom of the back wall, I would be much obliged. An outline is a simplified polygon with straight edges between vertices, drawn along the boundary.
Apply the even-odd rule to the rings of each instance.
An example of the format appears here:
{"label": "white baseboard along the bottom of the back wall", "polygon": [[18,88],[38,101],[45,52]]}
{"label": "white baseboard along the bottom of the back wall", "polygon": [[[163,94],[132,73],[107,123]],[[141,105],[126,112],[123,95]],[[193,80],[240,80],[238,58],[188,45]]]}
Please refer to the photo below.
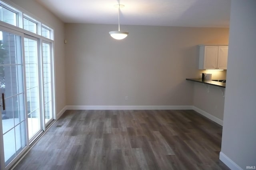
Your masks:
{"label": "white baseboard along the bottom of the back wall", "polygon": [[192,110],[192,106],[66,106],[66,110]]}

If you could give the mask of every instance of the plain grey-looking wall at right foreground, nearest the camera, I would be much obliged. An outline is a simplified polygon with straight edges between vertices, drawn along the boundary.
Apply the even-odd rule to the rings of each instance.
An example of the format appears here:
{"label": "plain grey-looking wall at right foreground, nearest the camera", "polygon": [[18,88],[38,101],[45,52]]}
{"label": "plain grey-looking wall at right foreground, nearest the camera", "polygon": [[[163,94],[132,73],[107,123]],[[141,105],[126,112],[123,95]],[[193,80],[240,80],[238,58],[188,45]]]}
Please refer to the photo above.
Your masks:
{"label": "plain grey-looking wall at right foreground, nearest the camera", "polygon": [[255,9],[255,0],[231,1],[228,81],[220,159],[232,170],[256,167]]}

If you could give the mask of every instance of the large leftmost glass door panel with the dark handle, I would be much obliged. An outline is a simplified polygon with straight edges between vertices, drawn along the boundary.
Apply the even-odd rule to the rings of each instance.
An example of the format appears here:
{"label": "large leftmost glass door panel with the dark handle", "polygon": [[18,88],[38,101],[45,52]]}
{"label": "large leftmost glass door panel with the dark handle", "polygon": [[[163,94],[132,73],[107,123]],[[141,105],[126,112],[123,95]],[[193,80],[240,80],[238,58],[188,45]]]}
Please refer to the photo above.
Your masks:
{"label": "large leftmost glass door panel with the dark handle", "polygon": [[0,31],[0,94],[2,144],[7,165],[25,148],[25,104],[21,37]]}

